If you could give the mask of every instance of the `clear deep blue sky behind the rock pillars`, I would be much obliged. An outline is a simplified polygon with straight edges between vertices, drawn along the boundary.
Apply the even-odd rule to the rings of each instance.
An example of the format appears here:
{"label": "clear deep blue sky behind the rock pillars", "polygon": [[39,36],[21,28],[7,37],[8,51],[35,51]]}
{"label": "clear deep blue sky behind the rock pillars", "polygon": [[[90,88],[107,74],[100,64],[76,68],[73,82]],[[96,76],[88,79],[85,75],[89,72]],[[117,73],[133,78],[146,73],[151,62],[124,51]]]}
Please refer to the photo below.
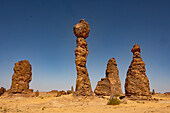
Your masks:
{"label": "clear deep blue sky behind the rock pillars", "polygon": [[91,28],[87,69],[93,90],[114,57],[124,92],[138,43],[151,89],[170,91],[169,0],[0,0],[0,87],[10,88],[14,63],[26,59],[30,88],[75,88],[73,26],[80,19]]}

